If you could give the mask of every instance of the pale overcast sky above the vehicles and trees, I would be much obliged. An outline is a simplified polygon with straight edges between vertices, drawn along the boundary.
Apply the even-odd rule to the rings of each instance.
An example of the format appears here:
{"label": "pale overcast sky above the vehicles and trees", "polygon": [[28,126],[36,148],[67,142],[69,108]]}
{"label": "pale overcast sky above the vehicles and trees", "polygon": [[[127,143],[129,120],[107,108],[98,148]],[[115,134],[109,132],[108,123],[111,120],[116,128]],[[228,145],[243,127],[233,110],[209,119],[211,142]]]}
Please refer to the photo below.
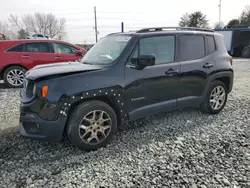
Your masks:
{"label": "pale overcast sky above the vehicles and trees", "polygon": [[[185,12],[202,11],[210,25],[219,20],[219,0],[0,0],[0,20],[9,14],[52,12],[67,21],[66,40],[95,42],[94,6],[97,8],[99,36],[151,26],[176,26]],[[222,21],[237,18],[249,0],[222,0]]]}

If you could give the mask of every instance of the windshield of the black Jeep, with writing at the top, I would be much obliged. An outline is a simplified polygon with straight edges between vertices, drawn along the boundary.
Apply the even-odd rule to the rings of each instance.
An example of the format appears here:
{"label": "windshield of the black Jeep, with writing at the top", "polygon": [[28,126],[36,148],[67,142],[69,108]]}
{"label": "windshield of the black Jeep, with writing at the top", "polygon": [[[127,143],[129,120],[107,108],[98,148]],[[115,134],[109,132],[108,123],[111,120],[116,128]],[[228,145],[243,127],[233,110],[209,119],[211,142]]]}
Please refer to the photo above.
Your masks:
{"label": "windshield of the black Jeep, with writing at the top", "polygon": [[81,59],[81,63],[109,64],[120,56],[131,36],[108,36],[97,42]]}

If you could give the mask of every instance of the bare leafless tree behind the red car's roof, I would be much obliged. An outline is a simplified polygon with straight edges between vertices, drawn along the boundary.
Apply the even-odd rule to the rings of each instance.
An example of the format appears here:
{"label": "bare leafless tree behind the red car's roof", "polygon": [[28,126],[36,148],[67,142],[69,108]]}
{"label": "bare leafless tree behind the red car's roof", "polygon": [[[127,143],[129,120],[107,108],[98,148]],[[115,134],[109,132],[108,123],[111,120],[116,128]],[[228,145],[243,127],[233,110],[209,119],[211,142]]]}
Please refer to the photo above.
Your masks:
{"label": "bare leafless tree behind the red car's roof", "polygon": [[25,14],[21,19],[10,15],[9,21],[17,31],[23,29],[31,34],[39,33],[56,39],[62,39],[66,34],[66,20],[56,18],[52,13]]}

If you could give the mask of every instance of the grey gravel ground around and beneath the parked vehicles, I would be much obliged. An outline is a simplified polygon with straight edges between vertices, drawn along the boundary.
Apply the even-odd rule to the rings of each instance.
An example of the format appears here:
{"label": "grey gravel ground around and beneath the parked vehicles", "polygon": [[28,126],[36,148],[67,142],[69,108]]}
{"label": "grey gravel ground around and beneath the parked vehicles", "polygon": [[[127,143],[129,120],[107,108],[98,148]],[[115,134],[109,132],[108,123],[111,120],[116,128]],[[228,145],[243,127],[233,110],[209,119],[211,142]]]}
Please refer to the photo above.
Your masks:
{"label": "grey gravel ground around and beneath the parked vehicles", "polygon": [[250,61],[215,116],[185,109],[121,127],[83,152],[20,138],[18,90],[0,91],[0,187],[250,187]]}

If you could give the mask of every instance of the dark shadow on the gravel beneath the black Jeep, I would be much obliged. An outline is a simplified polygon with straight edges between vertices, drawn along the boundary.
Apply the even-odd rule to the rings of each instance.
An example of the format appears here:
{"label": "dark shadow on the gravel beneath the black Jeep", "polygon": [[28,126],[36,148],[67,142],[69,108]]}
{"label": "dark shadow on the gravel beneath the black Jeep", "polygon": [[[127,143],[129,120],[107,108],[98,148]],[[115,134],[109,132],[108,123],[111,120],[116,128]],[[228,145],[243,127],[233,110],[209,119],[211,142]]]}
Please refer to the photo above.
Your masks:
{"label": "dark shadow on the gravel beneath the black Jeep", "polygon": [[[11,161],[11,164],[15,164],[22,160],[24,165],[30,163],[32,165],[43,164],[52,168],[50,166],[53,165],[49,164],[73,158],[75,159],[74,165],[84,165],[93,162],[93,160],[98,162],[105,158],[116,158],[124,152],[138,152],[145,145],[173,141],[175,136],[192,132],[201,126],[199,122],[201,119],[192,119],[193,122],[190,123],[190,115],[208,119],[209,123],[215,119],[207,118],[208,115],[202,114],[197,109],[184,109],[147,117],[119,127],[110,144],[92,152],[78,149],[66,138],[61,142],[36,141],[21,137],[18,127],[8,128],[0,132],[0,166],[1,161],[7,167],[9,161]],[[179,121],[180,119],[181,121]],[[204,125],[204,120],[202,125]],[[64,162],[60,169],[70,166],[72,166],[72,163]],[[10,165],[6,169],[14,170],[15,165]]]}

